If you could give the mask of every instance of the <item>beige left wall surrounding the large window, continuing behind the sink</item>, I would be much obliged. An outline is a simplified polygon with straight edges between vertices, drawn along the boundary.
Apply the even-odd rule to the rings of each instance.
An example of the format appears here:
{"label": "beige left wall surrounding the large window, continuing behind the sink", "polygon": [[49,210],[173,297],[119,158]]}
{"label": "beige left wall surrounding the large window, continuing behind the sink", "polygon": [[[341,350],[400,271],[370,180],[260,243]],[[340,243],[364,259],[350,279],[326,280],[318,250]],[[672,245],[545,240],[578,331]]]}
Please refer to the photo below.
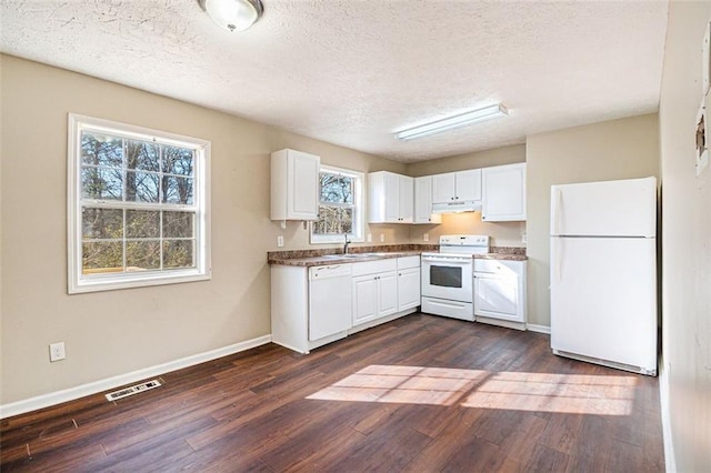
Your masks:
{"label": "beige left wall surrounding the large window, continuing behind the sink", "polygon": [[[294,148],[368,172],[404,164],[204,108],[2,57],[0,403],[78,386],[270,333],[269,153]],[[67,113],[212,141],[212,280],[67,295]],[[378,225],[387,243],[407,225]],[[286,249],[308,248],[300,223]],[[67,359],[51,363],[48,344]]]}

